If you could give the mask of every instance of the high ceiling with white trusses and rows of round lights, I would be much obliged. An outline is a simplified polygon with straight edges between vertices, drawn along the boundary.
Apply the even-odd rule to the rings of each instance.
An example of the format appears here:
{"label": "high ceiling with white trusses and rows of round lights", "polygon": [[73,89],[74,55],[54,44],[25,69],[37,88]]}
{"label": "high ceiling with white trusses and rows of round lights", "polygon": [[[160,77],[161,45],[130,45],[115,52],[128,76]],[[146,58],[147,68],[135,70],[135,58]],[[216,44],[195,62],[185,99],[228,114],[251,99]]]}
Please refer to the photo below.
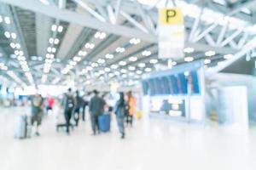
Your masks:
{"label": "high ceiling with white trusses and rows of round lights", "polygon": [[[254,0],[0,0],[0,74],[22,86],[116,81],[132,86],[143,73],[167,65],[158,59],[157,47],[158,8],[164,6],[181,7],[185,15],[185,59],[172,65],[196,59],[219,65],[255,37],[255,5]],[[242,60],[227,70],[239,72],[246,65],[252,67]]]}

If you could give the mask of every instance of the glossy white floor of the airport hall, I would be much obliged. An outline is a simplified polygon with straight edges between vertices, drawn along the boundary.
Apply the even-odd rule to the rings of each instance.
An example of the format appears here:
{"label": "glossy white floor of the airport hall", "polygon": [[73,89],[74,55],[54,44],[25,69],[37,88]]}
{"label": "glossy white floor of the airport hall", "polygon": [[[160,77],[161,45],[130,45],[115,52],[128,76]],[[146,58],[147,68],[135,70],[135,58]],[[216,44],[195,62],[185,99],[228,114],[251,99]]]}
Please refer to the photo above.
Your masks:
{"label": "glossy white floor of the airport hall", "polygon": [[119,139],[111,133],[90,136],[89,122],[71,136],[55,132],[49,116],[40,137],[13,138],[20,109],[0,109],[1,170],[255,170],[256,129],[200,127],[165,120],[143,120]]}

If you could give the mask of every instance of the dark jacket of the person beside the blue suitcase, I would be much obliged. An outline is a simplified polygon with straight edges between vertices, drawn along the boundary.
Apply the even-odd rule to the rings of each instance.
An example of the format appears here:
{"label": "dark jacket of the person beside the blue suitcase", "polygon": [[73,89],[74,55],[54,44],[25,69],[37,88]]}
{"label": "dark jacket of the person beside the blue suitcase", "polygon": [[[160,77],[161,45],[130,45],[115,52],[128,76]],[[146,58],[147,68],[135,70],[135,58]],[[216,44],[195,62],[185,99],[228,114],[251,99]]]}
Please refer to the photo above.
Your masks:
{"label": "dark jacket of the person beside the blue suitcase", "polygon": [[90,99],[89,103],[89,111],[90,115],[99,116],[102,115],[104,111],[104,105],[106,105],[104,99],[100,98],[99,96],[94,96]]}

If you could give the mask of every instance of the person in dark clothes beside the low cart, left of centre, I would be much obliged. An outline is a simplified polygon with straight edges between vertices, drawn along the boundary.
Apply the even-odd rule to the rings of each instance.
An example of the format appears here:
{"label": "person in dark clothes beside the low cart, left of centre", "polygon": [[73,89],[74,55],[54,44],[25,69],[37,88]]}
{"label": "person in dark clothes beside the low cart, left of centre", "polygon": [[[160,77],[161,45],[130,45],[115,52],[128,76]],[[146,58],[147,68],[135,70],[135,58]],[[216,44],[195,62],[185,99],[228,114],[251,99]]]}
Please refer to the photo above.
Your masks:
{"label": "person in dark clothes beside the low cart, left of centre", "polygon": [[66,120],[66,127],[67,127],[67,134],[69,134],[69,127],[70,127],[70,119],[73,115],[73,111],[75,109],[76,100],[73,97],[72,89],[68,88],[67,94],[64,95],[62,100],[62,105],[64,107],[64,115]]}

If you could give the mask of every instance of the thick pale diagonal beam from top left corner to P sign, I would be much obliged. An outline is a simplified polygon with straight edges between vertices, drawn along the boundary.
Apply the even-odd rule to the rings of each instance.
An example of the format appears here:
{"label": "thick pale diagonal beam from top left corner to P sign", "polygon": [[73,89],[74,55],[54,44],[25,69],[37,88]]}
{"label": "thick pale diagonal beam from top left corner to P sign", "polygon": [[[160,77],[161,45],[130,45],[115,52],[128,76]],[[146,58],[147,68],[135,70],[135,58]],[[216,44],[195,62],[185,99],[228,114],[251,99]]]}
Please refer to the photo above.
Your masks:
{"label": "thick pale diagonal beam from top left corner to P sign", "polygon": [[34,11],[36,13],[41,13],[48,15],[59,20],[65,20],[67,22],[76,23],[80,26],[94,28],[96,30],[106,31],[108,33],[113,33],[119,36],[125,37],[137,37],[147,42],[156,42],[157,38],[154,35],[148,35],[143,31],[138,31],[134,28],[127,26],[112,25],[107,22],[102,22],[86,16],[84,14],[78,14],[67,9],[60,9],[55,6],[45,6],[42,3],[34,0],[0,0],[0,2],[8,3],[10,5],[15,5],[20,8],[25,8],[27,10]]}

